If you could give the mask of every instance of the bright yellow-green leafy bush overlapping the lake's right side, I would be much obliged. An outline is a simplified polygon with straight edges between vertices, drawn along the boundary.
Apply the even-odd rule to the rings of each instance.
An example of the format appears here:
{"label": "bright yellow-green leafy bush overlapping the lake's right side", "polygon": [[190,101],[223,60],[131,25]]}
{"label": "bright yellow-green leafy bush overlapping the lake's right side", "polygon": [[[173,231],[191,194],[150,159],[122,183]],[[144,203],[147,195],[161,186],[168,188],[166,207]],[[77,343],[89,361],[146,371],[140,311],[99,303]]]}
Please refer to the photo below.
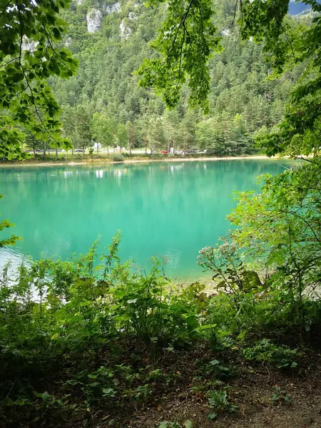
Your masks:
{"label": "bright yellow-green leafy bush overlapping the lake's right side", "polygon": [[[262,193],[241,193],[229,216],[243,257],[270,270],[270,283],[302,301],[320,284],[320,161],[265,178]],[[251,261],[252,260],[252,261]],[[290,297],[290,295],[289,295]]]}

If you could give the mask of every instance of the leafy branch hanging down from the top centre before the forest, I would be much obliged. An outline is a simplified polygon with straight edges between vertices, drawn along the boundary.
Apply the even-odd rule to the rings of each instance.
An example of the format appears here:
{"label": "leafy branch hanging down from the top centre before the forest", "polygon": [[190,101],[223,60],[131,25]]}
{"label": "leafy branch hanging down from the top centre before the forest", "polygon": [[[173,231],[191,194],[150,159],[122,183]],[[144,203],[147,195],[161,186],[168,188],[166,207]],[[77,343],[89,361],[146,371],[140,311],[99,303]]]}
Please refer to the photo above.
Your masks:
{"label": "leafy branch hanging down from the top centre before the forest", "polygon": [[201,105],[208,110],[208,58],[213,49],[220,50],[212,15],[210,0],[172,0],[167,4],[166,18],[153,42],[161,57],[143,61],[138,74],[142,76],[141,86],[163,91],[168,106],[178,103],[180,89],[188,78],[191,106]]}

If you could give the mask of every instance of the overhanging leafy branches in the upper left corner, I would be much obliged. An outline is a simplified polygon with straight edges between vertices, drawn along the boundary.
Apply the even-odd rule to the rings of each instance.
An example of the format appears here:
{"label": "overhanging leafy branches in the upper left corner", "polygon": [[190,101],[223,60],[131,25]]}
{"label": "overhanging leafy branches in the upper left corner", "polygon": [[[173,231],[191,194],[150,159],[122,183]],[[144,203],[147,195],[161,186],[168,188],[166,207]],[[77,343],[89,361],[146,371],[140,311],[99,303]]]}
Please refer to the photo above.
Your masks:
{"label": "overhanging leafy branches in the upper left corner", "polygon": [[36,138],[57,146],[67,144],[60,136],[60,109],[49,76],[68,78],[78,62],[59,47],[66,22],[59,16],[70,1],[1,1],[0,95],[1,149],[4,158],[24,158],[21,125]]}

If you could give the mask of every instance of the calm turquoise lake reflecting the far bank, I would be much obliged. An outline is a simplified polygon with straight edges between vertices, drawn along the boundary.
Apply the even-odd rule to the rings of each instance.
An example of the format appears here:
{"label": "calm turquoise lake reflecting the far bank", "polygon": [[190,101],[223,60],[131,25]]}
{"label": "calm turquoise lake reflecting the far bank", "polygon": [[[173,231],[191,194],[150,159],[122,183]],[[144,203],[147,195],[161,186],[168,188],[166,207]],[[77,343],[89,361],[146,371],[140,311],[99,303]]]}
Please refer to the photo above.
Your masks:
{"label": "calm turquoise lake reflecting the far bank", "polygon": [[0,252],[0,264],[41,255],[85,253],[101,235],[101,251],[121,230],[121,260],[148,269],[164,257],[173,280],[204,275],[198,250],[230,228],[233,191],[259,189],[256,178],[292,163],[274,160],[118,163],[0,169],[1,218],[24,238]]}

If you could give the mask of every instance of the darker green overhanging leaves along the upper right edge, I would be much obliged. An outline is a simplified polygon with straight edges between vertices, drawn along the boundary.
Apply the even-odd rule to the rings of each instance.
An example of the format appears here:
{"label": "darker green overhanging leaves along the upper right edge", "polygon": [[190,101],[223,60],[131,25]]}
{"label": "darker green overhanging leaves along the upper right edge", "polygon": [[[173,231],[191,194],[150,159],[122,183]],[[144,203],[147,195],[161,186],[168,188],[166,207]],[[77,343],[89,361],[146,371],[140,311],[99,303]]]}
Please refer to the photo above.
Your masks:
{"label": "darker green overhanging leaves along the upper right edge", "polygon": [[254,36],[264,41],[265,51],[272,54],[272,63],[282,73],[296,63],[305,63],[305,71],[290,96],[290,103],[279,130],[262,139],[269,155],[275,153],[318,153],[320,122],[320,38],[321,6],[316,0],[305,0],[316,12],[312,24],[295,26],[286,17],[288,1],[246,1],[243,4],[243,38]]}

